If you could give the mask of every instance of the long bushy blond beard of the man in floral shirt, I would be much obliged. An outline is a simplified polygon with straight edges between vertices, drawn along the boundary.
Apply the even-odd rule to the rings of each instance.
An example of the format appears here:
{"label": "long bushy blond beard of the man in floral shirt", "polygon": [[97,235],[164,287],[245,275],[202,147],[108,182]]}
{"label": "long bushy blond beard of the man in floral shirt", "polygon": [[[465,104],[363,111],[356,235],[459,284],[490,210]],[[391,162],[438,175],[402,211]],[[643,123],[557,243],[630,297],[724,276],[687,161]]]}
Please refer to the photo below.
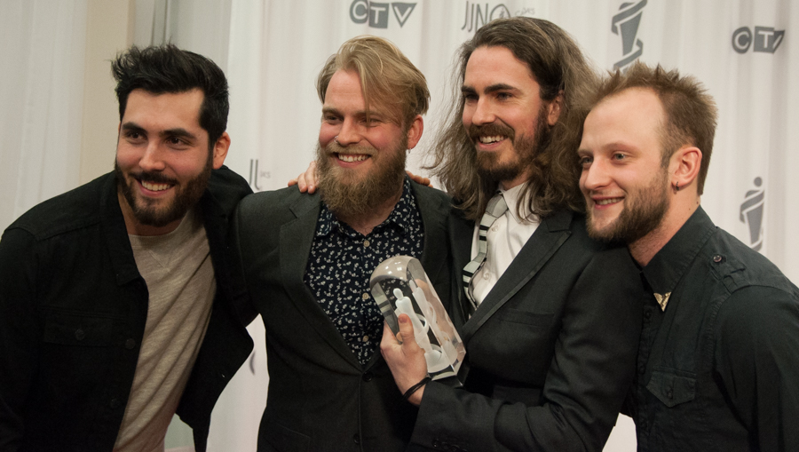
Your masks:
{"label": "long bushy blond beard of the man in floral shirt", "polygon": [[[367,147],[342,147],[335,141],[328,144],[327,150],[317,147],[322,201],[340,218],[359,218],[375,210],[376,206],[401,193],[406,150],[407,138],[394,149],[380,152]],[[330,161],[332,153],[369,155],[374,168],[367,174],[359,174],[357,169],[338,167]]]}

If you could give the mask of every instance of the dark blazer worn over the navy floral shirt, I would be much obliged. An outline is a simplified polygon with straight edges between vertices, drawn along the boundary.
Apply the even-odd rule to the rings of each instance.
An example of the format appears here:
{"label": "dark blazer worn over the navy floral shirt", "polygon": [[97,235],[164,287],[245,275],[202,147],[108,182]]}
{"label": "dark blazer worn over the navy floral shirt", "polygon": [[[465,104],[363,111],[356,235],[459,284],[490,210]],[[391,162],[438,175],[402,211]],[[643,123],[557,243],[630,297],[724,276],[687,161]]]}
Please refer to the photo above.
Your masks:
{"label": "dark blazer worn over the navy floral shirt", "polygon": [[[451,256],[446,194],[413,184],[422,214],[422,264],[448,305]],[[239,205],[233,242],[251,303],[266,330],[269,391],[258,450],[403,450],[417,409],[401,398],[380,353],[367,366],[303,282],[320,212],[296,187],[253,194]]]}

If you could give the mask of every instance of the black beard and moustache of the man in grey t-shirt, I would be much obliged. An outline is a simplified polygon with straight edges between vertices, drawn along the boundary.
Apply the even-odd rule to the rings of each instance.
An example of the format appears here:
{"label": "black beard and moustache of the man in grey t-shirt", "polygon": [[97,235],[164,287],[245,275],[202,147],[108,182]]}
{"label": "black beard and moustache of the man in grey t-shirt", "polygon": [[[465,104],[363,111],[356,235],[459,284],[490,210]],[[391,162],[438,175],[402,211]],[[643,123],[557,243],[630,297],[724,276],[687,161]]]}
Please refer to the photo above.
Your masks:
{"label": "black beard and moustache of the man in grey t-shirt", "polygon": [[[133,217],[142,225],[155,227],[167,226],[173,221],[177,221],[186,216],[186,212],[200,201],[202,194],[205,192],[212,166],[213,156],[209,153],[208,161],[201,173],[186,182],[184,186],[181,186],[178,184],[177,180],[167,178],[160,172],[142,171],[136,174],[135,178],[133,175],[126,177],[123,170],[114,162],[118,189],[122,192],[128,205],[131,206]],[[156,200],[137,198],[137,179],[154,183],[171,184],[175,189],[175,196],[168,205],[161,207],[158,206]]]}

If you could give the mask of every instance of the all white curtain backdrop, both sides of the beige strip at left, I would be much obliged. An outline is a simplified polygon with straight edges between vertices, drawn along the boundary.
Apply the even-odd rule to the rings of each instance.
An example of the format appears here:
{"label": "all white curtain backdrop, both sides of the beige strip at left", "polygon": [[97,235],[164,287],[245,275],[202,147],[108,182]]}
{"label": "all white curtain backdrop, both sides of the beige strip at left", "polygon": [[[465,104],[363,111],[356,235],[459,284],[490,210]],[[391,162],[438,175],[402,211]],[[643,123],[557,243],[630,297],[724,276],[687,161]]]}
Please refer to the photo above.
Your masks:
{"label": "all white curtain backdrop, both sides of the beige strip at left", "polygon": [[[0,0],[0,226],[77,185],[85,0]],[[597,68],[634,59],[696,75],[720,111],[702,205],[718,226],[799,282],[799,2],[792,0],[135,0],[137,44],[171,40],[225,69],[231,85],[227,164],[255,190],[284,186],[312,159],[314,83],[344,40],[384,36],[423,71],[431,111],[409,167],[418,170],[442,118],[455,50],[487,20],[526,15],[570,32]],[[11,19],[8,19],[11,18]],[[796,28],[794,28],[796,27]],[[9,44],[9,43],[13,43]],[[111,58],[109,55],[108,58]],[[9,63],[10,64],[6,64]],[[110,167],[109,167],[110,170]],[[793,195],[793,196],[792,196]],[[793,234],[792,234],[793,233]],[[256,350],[214,411],[210,450],[255,450],[267,375]],[[627,421],[625,421],[627,422]],[[635,450],[630,424],[607,450]]]}

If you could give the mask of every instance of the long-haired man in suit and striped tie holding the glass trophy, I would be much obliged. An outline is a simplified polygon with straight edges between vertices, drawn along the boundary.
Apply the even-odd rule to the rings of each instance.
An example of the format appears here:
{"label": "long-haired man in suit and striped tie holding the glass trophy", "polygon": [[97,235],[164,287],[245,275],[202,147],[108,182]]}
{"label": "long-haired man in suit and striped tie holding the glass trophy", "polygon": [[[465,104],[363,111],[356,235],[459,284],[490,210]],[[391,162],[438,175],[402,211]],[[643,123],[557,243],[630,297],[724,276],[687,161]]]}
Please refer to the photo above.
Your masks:
{"label": "long-haired man in suit and striped tie holding the glass trophy", "polygon": [[[432,169],[460,208],[451,313],[470,370],[462,389],[410,396],[413,445],[601,450],[635,372],[641,283],[629,252],[591,240],[579,213],[574,149],[596,75],[566,32],[524,17],[480,28],[459,62]],[[381,351],[406,392],[426,366],[407,316],[399,329]]]}

